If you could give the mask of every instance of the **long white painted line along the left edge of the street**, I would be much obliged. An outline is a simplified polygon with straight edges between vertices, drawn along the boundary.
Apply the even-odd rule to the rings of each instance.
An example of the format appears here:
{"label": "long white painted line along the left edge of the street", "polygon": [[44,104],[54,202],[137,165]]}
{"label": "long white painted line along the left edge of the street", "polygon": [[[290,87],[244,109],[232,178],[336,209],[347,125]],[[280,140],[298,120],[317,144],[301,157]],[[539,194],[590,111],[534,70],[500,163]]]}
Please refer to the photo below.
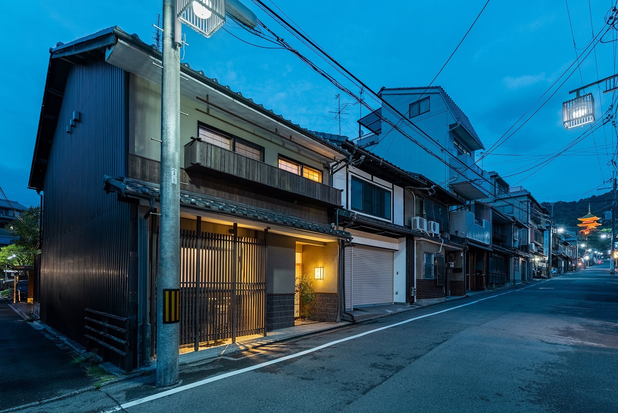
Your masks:
{"label": "long white painted line along the left edge of the street", "polygon": [[[546,280],[546,281],[549,281],[549,280]],[[546,281],[541,281],[541,282],[545,283]],[[121,409],[127,409],[127,407],[137,406],[138,404],[142,404],[142,403],[145,403],[145,402],[148,402],[148,401],[160,399],[160,398],[163,398],[165,396],[170,396],[171,394],[180,393],[181,391],[185,391],[185,390],[189,390],[189,389],[192,389],[192,388],[195,388],[195,387],[198,387],[198,386],[206,385],[208,383],[212,383],[213,381],[218,381],[218,380],[221,380],[223,378],[232,377],[232,376],[239,375],[239,374],[242,374],[242,373],[251,372],[252,370],[257,370],[258,368],[266,367],[267,365],[277,364],[277,363],[281,363],[281,362],[284,362],[284,361],[289,360],[289,359],[294,359],[296,357],[305,356],[305,354],[310,354],[312,352],[316,352],[318,350],[325,349],[326,347],[331,347],[331,346],[334,346],[335,344],[344,343],[345,341],[353,340],[355,338],[366,336],[368,334],[377,333],[378,331],[386,330],[387,328],[392,328],[392,327],[400,326],[400,325],[409,323],[410,321],[420,320],[421,318],[430,317],[431,315],[436,315],[436,314],[440,314],[440,313],[445,313],[447,311],[451,311],[451,310],[455,310],[455,309],[460,309],[461,307],[466,307],[467,305],[470,305],[470,304],[476,304],[477,302],[481,302],[483,300],[488,300],[490,298],[504,296],[504,294],[509,294],[511,292],[514,292],[514,291],[520,291],[522,289],[526,289],[526,288],[529,288],[529,287],[531,287],[531,286],[519,288],[517,290],[502,292],[502,294],[496,294],[495,296],[481,298],[481,299],[478,299],[476,301],[468,302],[467,304],[462,304],[462,305],[457,305],[456,307],[451,307],[450,309],[436,311],[434,313],[420,315],[420,316],[414,317],[414,318],[408,318],[408,320],[399,321],[399,323],[394,323],[394,324],[387,325],[387,326],[384,326],[384,327],[375,328],[374,330],[365,331],[365,333],[355,334],[353,336],[349,336],[349,337],[342,338],[342,339],[339,339],[339,340],[331,341],[330,343],[322,344],[321,346],[313,347],[312,349],[308,349],[308,350],[305,350],[305,351],[297,352],[295,354],[290,354],[289,356],[280,357],[279,359],[270,360],[270,361],[263,362],[263,363],[260,363],[260,364],[252,365],[250,367],[241,368],[240,370],[234,370],[233,372],[227,372],[227,373],[220,374],[218,376],[205,378],[204,380],[195,381],[194,383],[190,383],[188,385],[179,386],[177,388],[173,388],[173,389],[166,390],[166,391],[161,391],[161,393],[152,394],[151,396],[147,396],[147,397],[142,398],[142,399],[137,399],[137,400],[133,400],[133,401],[130,401],[130,402],[126,402],[124,404],[121,404],[120,406],[116,406],[116,407],[114,407],[112,409],[106,410],[106,411],[101,412],[101,413],[117,412],[117,411],[119,411]]]}

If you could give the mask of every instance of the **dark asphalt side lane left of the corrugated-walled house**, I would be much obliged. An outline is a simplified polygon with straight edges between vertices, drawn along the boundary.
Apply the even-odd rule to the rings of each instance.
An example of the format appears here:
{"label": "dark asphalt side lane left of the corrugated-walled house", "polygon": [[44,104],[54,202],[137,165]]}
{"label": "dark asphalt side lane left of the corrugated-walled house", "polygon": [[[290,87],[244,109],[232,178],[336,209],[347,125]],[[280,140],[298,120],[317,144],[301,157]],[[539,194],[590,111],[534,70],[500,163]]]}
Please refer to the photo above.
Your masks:
{"label": "dark asphalt side lane left of the corrugated-walled house", "polygon": [[72,356],[15,313],[6,299],[0,299],[0,348],[0,409],[53,398],[95,383],[96,379],[89,377]]}

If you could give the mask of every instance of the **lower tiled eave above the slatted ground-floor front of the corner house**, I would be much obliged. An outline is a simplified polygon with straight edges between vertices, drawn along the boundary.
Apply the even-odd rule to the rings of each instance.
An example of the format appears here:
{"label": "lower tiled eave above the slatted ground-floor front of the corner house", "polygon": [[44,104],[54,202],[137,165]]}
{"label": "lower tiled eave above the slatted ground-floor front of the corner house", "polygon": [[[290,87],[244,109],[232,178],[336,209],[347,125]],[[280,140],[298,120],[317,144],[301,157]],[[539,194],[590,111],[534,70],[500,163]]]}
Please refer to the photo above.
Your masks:
{"label": "lower tiled eave above the slatted ground-floor front of the corner house", "polygon": [[[159,198],[159,184],[141,181],[140,179],[108,177],[106,179],[105,190],[107,192],[117,192],[128,197],[145,199]],[[180,204],[181,206],[187,206],[189,208],[210,210],[214,213],[240,216],[247,219],[263,221],[265,223],[320,232],[321,234],[339,238],[349,239],[351,237],[349,232],[339,231],[328,224],[307,221],[306,219],[297,218],[292,215],[277,213],[239,202],[231,202],[221,198],[211,197],[210,195],[197,194],[187,190],[180,190]]]}

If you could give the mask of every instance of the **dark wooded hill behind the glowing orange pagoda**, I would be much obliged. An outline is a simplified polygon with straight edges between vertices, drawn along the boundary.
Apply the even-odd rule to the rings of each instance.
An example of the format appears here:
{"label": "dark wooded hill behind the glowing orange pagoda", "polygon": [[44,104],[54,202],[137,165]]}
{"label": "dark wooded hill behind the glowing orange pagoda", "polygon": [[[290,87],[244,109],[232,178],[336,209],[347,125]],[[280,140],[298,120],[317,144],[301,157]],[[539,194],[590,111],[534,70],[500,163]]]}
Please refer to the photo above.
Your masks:
{"label": "dark wooded hill behind the glowing orange pagoda", "polygon": [[[605,218],[605,211],[609,210],[609,206],[612,201],[612,193],[611,191],[606,192],[602,195],[593,195],[590,198],[582,198],[578,201],[572,202],[564,202],[557,201],[554,202],[554,221],[556,221],[557,225],[565,226],[565,227],[576,227],[580,221],[577,218],[580,218],[588,213],[588,204],[590,203],[590,211],[593,215],[601,218],[601,222]],[[551,203],[550,202],[541,202],[545,208],[551,213]],[[609,226],[603,225],[598,227],[599,229],[608,228]],[[575,228],[569,228],[572,230]]]}

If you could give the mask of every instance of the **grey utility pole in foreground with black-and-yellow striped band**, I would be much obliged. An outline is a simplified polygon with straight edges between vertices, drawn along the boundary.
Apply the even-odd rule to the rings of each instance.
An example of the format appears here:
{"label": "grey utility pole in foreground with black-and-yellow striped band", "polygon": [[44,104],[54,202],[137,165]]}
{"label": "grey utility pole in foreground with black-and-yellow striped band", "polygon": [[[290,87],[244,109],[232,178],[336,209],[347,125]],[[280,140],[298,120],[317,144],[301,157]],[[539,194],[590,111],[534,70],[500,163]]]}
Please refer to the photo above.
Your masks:
{"label": "grey utility pole in foreground with black-and-yellow striped band", "polygon": [[178,381],[180,291],[180,22],[163,0],[161,203],[156,296],[156,385]]}

